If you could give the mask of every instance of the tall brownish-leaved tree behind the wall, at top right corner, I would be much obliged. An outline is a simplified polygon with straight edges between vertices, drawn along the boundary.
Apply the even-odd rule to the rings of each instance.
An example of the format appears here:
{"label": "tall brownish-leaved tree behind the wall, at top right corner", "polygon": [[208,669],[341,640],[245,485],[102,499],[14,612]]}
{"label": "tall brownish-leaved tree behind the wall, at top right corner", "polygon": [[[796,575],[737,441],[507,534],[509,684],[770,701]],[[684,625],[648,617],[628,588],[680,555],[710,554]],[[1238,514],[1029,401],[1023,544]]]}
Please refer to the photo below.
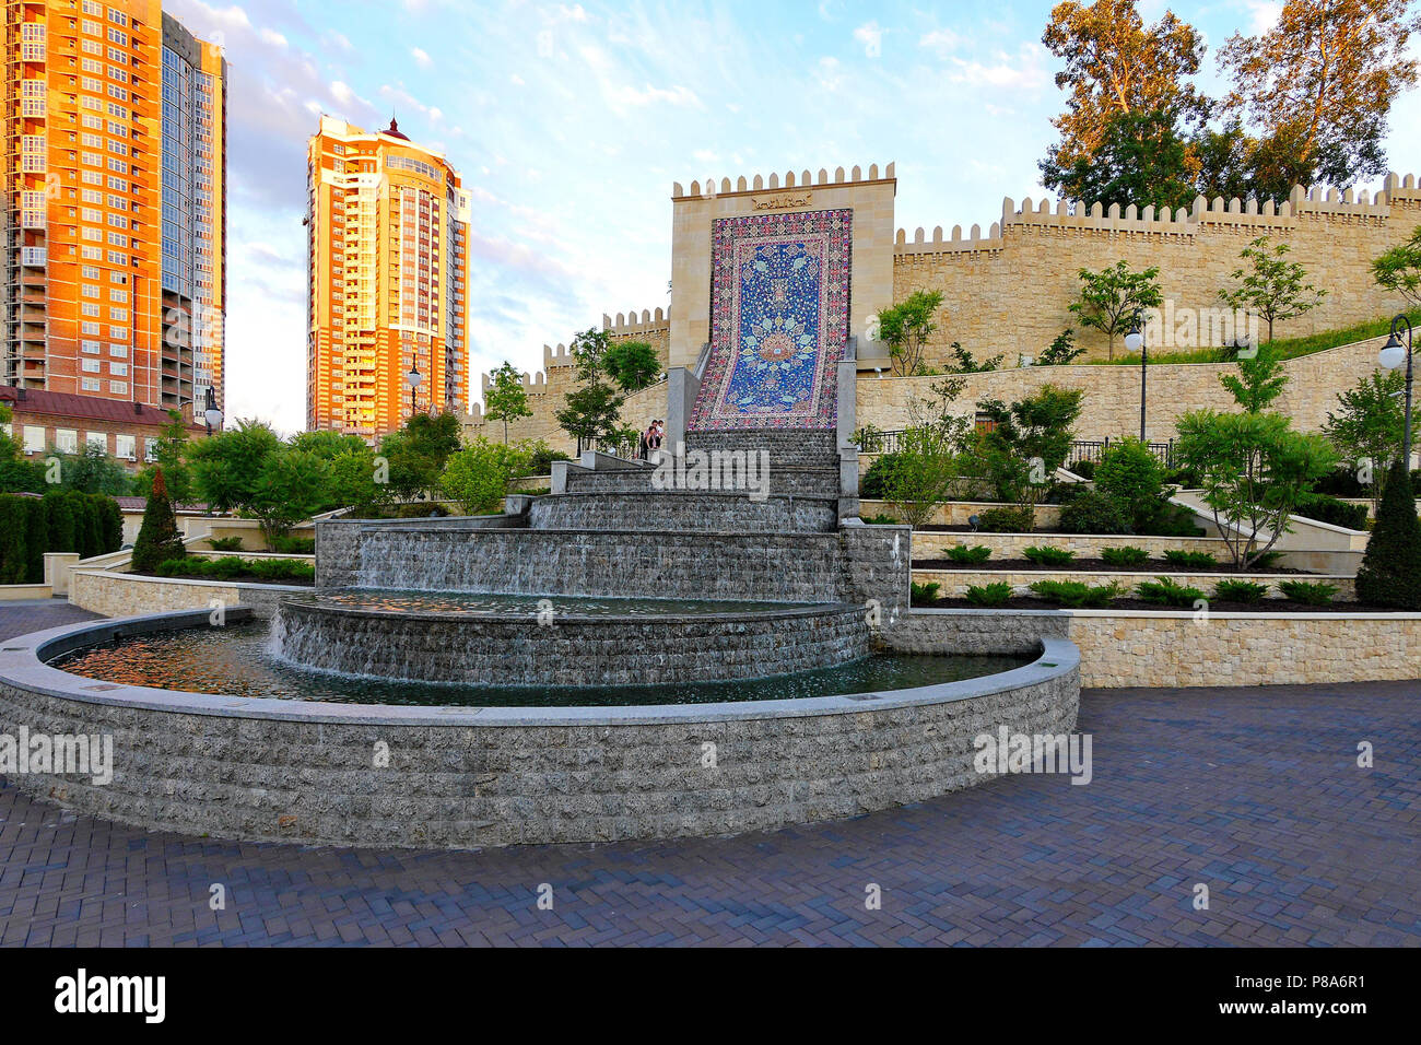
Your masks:
{"label": "tall brownish-leaved tree behind the wall, at top right corner", "polygon": [[[1421,17],[1397,0],[1286,0],[1277,23],[1219,53],[1225,109],[1246,118],[1277,183],[1351,185],[1387,169],[1395,98],[1417,82],[1408,53]],[[1286,189],[1285,189],[1286,193]]]}

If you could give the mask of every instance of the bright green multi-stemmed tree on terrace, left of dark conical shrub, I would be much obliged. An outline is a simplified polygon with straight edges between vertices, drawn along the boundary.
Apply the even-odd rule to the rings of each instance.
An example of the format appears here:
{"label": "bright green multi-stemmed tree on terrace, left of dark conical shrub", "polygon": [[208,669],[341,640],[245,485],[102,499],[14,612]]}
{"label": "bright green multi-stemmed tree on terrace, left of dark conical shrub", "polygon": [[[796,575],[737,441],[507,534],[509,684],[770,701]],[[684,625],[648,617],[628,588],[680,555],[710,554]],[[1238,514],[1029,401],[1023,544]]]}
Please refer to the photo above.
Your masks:
{"label": "bright green multi-stemmed tree on terrace, left of dark conical shrub", "polygon": [[1196,472],[1233,566],[1246,570],[1292,527],[1289,516],[1337,462],[1317,434],[1295,432],[1282,414],[1185,414],[1175,452]]}

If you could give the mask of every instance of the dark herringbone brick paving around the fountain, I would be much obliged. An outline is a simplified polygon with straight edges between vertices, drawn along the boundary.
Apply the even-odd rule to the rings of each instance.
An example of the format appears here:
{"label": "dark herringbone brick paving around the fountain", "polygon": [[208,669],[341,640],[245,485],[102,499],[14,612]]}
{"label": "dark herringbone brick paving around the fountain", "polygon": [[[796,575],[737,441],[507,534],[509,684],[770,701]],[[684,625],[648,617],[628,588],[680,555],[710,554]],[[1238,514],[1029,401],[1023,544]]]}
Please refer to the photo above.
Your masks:
{"label": "dark herringbone brick paving around the fountain", "polygon": [[[77,618],[0,607],[0,637]],[[6,785],[0,944],[1417,947],[1418,692],[1086,691],[1087,786],[1015,776],[848,822],[655,845],[239,845],[75,818]],[[226,910],[209,910],[213,883]]]}

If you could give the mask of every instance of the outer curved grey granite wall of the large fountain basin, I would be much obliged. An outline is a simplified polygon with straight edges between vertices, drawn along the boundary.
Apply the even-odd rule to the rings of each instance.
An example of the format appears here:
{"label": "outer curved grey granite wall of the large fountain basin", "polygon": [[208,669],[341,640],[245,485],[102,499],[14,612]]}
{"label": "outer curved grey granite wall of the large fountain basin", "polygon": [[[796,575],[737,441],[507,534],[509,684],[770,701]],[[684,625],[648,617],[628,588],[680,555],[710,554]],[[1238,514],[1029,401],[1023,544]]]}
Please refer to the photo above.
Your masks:
{"label": "outer curved grey granite wall of the large fountain basin", "polygon": [[[1069,732],[1079,708],[1074,651],[1053,657],[1054,668],[898,701],[871,694],[799,711],[709,705],[621,718],[530,709],[499,721],[492,709],[311,712],[284,701],[257,712],[128,688],[54,695],[17,681],[20,657],[0,654],[0,731],[111,734],[115,763],[107,786],[24,773],[11,778],[21,791],[152,829],[308,845],[612,842],[857,816],[988,781],[972,765],[973,736],[1002,725]],[[372,768],[377,744],[388,745],[387,768]]]}

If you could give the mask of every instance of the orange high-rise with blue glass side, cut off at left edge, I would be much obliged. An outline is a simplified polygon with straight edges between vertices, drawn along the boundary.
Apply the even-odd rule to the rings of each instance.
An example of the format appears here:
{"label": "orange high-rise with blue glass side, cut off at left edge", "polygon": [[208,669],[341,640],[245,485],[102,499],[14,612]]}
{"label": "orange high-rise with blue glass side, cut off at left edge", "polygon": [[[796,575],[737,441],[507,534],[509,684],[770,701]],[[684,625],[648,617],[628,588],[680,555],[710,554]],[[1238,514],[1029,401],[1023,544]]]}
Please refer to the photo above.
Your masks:
{"label": "orange high-rise with blue glass side, cut off at left edge", "polygon": [[220,404],[222,48],[159,0],[4,13],[0,378],[189,417],[213,385]]}

